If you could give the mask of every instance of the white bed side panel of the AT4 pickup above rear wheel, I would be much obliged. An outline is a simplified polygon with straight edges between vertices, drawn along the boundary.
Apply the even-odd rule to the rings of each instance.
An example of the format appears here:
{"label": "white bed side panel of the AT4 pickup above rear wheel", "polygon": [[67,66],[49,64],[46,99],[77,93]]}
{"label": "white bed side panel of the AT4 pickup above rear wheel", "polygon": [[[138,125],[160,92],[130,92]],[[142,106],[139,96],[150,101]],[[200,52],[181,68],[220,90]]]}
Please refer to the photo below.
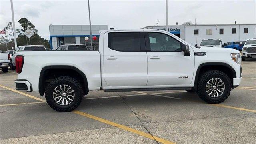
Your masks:
{"label": "white bed side panel of the AT4 pickup above rear wheel", "polygon": [[46,66],[76,67],[87,76],[89,90],[101,87],[98,51],[21,51],[18,55],[24,56],[22,72],[18,78],[28,80],[35,92],[38,92],[40,72]]}

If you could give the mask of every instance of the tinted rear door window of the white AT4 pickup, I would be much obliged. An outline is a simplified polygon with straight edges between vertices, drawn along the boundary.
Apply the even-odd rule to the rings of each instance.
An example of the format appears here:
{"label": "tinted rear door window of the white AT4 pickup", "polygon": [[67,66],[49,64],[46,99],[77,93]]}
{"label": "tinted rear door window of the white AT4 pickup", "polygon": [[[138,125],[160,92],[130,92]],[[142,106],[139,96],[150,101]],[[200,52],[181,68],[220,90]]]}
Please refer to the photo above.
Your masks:
{"label": "tinted rear door window of the white AT4 pickup", "polygon": [[122,52],[139,52],[140,32],[108,33],[108,47]]}

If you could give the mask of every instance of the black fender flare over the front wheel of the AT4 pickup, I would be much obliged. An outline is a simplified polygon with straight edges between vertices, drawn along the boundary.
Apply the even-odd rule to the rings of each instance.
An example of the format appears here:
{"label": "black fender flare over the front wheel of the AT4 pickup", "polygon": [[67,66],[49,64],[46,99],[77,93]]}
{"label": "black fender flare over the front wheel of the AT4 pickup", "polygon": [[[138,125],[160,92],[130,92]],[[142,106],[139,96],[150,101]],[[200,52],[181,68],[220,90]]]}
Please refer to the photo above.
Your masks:
{"label": "black fender flare over the front wheel of the AT4 pickup", "polygon": [[234,70],[234,68],[232,68],[232,66],[230,66],[227,63],[224,63],[224,62],[206,62],[206,63],[202,63],[198,66],[198,68],[196,70],[196,77],[195,77],[195,81],[194,81],[194,90],[197,89],[197,82],[198,82],[199,72],[200,72],[200,70],[203,66],[225,66],[225,67],[229,68],[232,71],[232,77],[236,78],[236,71]]}

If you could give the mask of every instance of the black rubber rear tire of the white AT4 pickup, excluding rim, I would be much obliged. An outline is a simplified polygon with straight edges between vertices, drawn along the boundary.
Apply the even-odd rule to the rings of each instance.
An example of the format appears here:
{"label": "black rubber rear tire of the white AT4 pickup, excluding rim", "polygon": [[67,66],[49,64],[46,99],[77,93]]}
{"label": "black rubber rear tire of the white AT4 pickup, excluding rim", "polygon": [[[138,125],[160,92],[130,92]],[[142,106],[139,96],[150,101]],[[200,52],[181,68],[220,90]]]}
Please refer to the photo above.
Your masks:
{"label": "black rubber rear tire of the white AT4 pickup, excluding rim", "polygon": [[[71,86],[75,93],[74,100],[70,104],[64,106],[57,104],[52,96],[54,89],[62,84]],[[77,108],[81,103],[83,98],[83,89],[81,84],[76,79],[69,76],[60,76],[52,80],[52,82],[50,82],[50,84],[47,86],[45,90],[45,98],[46,102],[52,109],[58,112],[70,112]]]}

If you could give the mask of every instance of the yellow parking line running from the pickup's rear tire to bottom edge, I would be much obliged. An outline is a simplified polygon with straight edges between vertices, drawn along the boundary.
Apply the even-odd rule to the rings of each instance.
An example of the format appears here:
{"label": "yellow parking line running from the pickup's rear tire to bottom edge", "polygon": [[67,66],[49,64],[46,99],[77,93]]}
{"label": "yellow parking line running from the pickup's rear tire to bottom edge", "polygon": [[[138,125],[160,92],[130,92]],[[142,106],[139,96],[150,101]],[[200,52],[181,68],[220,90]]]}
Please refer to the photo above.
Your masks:
{"label": "yellow parking line running from the pickup's rear tire to bottom edge", "polygon": [[80,111],[78,111],[78,110],[74,110],[73,112],[76,113],[76,114],[79,114],[79,115],[81,115],[81,116],[85,116],[85,117],[87,117],[87,118],[92,118],[92,119],[94,119],[94,120],[103,122],[103,123],[105,123],[105,124],[108,124],[108,125],[111,125],[111,126],[114,126],[114,127],[117,127],[117,128],[123,129],[123,130],[126,130],[126,131],[128,131],[128,132],[132,132],[132,133],[134,133],[134,134],[138,134],[138,135],[140,135],[140,136],[144,136],[144,137],[146,137],[146,138],[150,138],[151,140],[156,140],[156,141],[161,142],[161,143],[163,143],[163,144],[175,144],[174,142],[170,142],[170,141],[168,141],[168,140],[165,140],[165,139],[162,139],[162,138],[159,138],[159,137],[156,137],[156,136],[152,136],[152,135],[150,135],[150,134],[148,134],[148,133],[146,133],[146,132],[142,132],[142,131],[139,131],[139,130],[135,130],[135,129],[130,128],[130,127],[128,127],[128,126],[123,126],[123,125],[121,125],[121,124],[117,124],[117,123],[115,123],[115,122],[111,122],[111,121],[109,121],[109,120],[105,120],[105,119],[103,119],[103,118],[99,118],[99,117],[97,117],[97,116],[92,116],[92,115],[90,115],[90,114],[86,114],[86,113],[84,113],[84,112],[80,112]]}

